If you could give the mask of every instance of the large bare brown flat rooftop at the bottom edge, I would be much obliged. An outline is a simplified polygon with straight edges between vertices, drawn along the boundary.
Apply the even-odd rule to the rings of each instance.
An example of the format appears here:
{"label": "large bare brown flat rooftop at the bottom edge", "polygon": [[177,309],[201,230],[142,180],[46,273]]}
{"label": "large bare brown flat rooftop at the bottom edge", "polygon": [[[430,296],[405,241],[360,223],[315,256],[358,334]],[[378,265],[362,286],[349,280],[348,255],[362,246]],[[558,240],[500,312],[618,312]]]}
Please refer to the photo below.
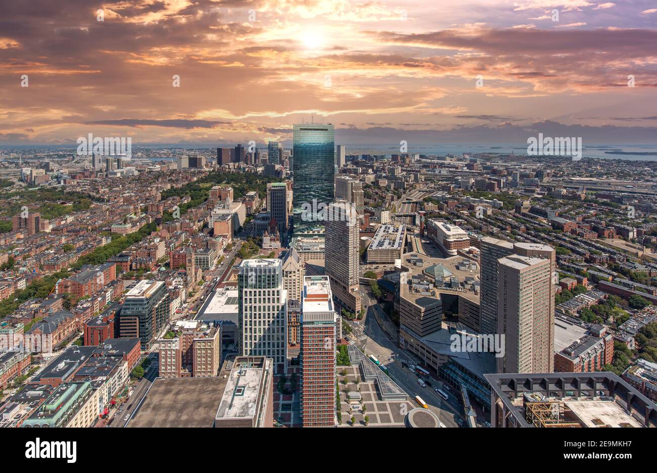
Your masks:
{"label": "large bare brown flat rooftop at the bottom edge", "polygon": [[127,427],[212,427],[223,377],[156,379]]}

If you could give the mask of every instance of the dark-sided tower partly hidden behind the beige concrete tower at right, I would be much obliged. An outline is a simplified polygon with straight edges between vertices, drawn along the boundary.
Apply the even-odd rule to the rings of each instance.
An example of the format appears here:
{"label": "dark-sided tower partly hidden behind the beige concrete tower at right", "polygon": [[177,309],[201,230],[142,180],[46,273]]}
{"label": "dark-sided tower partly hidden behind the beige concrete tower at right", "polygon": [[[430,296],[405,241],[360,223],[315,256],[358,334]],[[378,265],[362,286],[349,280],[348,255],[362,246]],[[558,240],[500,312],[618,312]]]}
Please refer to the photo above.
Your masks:
{"label": "dark-sided tower partly hidden behind the beige concrete tower at right", "polygon": [[479,326],[482,333],[497,332],[497,284],[499,258],[515,253],[513,243],[492,237],[482,238]]}

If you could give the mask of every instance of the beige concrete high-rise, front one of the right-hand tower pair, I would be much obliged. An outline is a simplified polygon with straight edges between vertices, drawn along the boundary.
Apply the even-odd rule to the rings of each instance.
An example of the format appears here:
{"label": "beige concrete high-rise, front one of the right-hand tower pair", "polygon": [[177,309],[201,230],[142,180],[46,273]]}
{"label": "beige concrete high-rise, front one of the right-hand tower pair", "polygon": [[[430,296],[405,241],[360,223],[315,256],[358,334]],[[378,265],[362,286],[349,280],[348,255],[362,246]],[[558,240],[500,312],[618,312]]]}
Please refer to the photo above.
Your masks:
{"label": "beige concrete high-rise, front one of the right-hand tower pair", "polygon": [[550,373],[551,261],[510,255],[499,258],[497,333],[505,335],[498,373]]}

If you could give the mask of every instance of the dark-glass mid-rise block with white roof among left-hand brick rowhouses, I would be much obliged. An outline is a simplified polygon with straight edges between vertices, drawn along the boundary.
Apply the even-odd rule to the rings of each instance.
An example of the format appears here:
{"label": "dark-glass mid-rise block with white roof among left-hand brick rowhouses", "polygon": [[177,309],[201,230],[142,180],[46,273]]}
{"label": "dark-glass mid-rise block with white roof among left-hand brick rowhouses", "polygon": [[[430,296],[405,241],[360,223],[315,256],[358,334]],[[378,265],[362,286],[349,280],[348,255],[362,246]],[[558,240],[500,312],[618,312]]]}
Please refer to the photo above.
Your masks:
{"label": "dark-glass mid-rise block with white roof among left-hand brick rowhouses", "polygon": [[120,338],[139,338],[141,349],[147,350],[169,323],[169,304],[169,292],[163,281],[139,281],[125,294],[119,318]]}

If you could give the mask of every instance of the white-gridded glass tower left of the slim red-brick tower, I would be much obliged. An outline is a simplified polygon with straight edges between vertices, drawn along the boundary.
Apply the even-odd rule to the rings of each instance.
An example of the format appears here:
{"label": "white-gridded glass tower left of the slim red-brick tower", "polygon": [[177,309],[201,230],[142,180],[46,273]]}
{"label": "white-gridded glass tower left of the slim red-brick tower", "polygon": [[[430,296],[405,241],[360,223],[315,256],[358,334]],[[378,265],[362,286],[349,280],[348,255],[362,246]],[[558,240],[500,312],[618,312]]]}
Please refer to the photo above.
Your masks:
{"label": "white-gridded glass tower left of the slim red-brick tower", "polygon": [[237,290],[240,354],[272,358],[276,372],[284,373],[287,291],[283,289],[283,260],[243,260]]}

